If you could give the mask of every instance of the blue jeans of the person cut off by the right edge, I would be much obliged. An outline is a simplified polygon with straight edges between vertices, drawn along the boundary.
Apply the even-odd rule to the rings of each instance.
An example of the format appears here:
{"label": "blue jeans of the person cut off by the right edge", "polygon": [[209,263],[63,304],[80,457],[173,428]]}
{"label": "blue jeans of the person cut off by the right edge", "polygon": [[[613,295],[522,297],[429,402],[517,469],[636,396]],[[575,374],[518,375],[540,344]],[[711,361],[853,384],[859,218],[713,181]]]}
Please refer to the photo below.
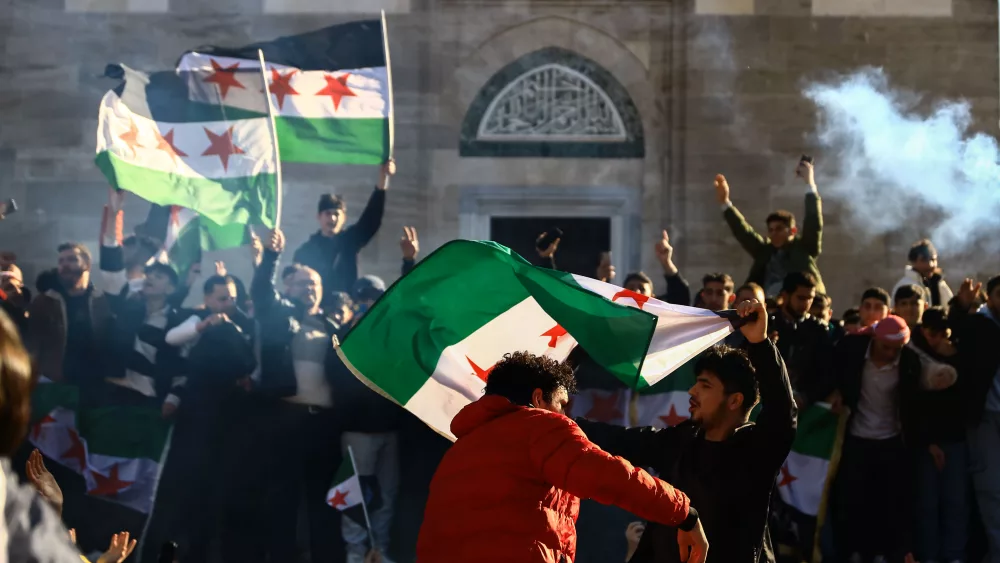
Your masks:
{"label": "blue jeans of the person cut off by the right edge", "polygon": [[1000,563],[1000,412],[984,412],[969,429],[969,470],[990,547],[986,561]]}

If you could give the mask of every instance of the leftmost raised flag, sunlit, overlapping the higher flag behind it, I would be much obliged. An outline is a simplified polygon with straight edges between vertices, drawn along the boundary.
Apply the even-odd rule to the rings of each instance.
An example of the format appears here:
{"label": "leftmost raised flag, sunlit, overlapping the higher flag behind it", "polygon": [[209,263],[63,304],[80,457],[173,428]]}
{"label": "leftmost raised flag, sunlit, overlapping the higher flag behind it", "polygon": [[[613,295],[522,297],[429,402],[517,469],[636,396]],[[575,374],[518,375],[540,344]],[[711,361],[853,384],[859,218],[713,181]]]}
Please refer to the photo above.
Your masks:
{"label": "leftmost raised flag, sunlit, overlapping the higher flag behind it", "polygon": [[101,101],[97,127],[97,165],[112,186],[220,225],[274,225],[277,163],[266,117],[189,100],[196,73],[111,65],[106,74],[123,80]]}

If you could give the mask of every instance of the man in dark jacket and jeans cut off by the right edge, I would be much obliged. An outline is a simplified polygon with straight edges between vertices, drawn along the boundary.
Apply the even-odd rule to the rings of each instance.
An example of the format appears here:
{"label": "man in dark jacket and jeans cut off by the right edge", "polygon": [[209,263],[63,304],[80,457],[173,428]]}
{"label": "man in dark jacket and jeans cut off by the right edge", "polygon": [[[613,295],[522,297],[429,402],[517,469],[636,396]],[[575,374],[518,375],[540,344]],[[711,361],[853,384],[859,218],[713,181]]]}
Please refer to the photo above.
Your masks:
{"label": "man in dark jacket and jeans cut off by the right edge", "polygon": [[965,280],[950,309],[959,378],[968,413],[969,468],[989,543],[1000,563],[1000,275],[986,282],[986,303],[974,313],[982,284]]}

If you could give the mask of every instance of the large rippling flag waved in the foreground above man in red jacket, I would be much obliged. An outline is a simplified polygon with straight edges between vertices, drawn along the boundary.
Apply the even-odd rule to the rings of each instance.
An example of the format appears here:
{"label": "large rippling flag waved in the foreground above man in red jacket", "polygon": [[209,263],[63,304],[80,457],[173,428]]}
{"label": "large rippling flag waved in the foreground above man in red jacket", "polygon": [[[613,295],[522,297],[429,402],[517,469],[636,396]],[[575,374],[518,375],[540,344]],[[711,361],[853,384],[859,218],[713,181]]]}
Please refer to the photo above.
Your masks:
{"label": "large rippling flag waved in the foreground above man in red jacket", "polygon": [[355,375],[451,436],[492,366],[526,350],[565,360],[579,344],[644,389],[733,330],[715,313],[538,268],[491,242],[453,241],[379,299],[339,353]]}

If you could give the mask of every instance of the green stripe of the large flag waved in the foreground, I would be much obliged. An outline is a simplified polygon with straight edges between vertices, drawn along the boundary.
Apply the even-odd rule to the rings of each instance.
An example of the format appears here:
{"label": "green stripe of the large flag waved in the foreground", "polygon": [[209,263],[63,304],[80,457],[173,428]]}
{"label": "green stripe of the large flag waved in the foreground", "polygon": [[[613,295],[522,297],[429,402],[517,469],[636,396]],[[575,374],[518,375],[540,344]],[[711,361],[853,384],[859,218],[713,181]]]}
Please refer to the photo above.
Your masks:
{"label": "green stripe of the large flag waved in the foreground", "polygon": [[406,404],[445,348],[529,297],[594,361],[622,381],[638,380],[655,316],[604,299],[571,275],[532,266],[492,242],[452,241],[425,258],[361,319],[342,352],[358,373]]}

